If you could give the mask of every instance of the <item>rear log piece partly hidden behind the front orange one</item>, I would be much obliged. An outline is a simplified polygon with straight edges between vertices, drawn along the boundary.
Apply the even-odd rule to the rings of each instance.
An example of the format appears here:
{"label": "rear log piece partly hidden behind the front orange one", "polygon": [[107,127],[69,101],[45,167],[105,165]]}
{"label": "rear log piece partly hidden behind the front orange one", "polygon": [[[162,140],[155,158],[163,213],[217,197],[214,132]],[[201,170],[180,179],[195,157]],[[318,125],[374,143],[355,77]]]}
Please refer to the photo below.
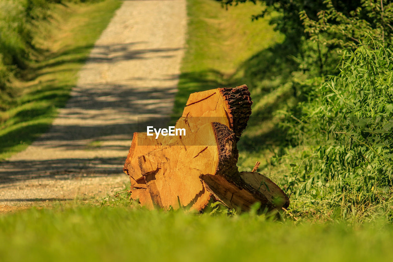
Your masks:
{"label": "rear log piece partly hidden behind the front orange one", "polygon": [[[214,107],[211,107],[211,105],[214,105]],[[186,133],[189,134],[203,124],[218,121],[234,128],[239,137],[251,114],[251,105],[250,92],[246,85],[196,92],[190,95],[183,113],[185,117],[178,120],[176,128],[185,128]],[[242,120],[237,121],[236,117],[240,117]],[[239,127],[237,127],[237,123],[240,124]],[[152,201],[148,197],[145,178],[140,172],[138,157],[169,144],[173,144],[169,137],[160,135],[158,139],[155,139],[153,136],[148,137],[146,133],[134,133],[123,171],[130,177],[131,198],[139,199],[141,205],[152,207]],[[191,142],[191,144],[193,143]],[[203,199],[203,197],[200,199]],[[204,203],[204,201],[202,202]]]}

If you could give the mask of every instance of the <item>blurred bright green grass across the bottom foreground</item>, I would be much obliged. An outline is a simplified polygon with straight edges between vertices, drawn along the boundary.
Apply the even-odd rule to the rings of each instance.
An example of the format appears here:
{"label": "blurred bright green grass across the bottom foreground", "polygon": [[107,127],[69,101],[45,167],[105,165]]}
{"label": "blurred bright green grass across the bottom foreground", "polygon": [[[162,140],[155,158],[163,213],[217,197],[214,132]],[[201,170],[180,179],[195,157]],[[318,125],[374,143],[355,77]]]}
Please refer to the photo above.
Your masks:
{"label": "blurred bright green grass across the bottom foreground", "polygon": [[[109,202],[111,199],[108,199]],[[392,225],[298,224],[113,201],[0,215],[2,261],[391,261]]]}

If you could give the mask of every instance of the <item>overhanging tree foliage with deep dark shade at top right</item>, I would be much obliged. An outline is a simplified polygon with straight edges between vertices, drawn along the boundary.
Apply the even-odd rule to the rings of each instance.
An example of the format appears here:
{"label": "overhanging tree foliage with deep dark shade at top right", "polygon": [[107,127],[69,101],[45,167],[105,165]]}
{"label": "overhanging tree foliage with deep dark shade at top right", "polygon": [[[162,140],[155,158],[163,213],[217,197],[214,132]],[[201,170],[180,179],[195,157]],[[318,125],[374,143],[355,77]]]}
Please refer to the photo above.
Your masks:
{"label": "overhanging tree foliage with deep dark shade at top right", "polygon": [[[341,1],[341,0],[221,0],[223,6],[244,2],[261,3],[262,11],[253,19],[264,17],[272,11],[280,15],[270,19],[275,29],[286,36],[288,46],[294,49],[292,56],[298,63],[295,75],[302,78],[337,74],[341,48],[356,48],[367,35],[385,39],[393,33],[390,0]],[[295,93],[302,100],[307,90],[296,81]]]}

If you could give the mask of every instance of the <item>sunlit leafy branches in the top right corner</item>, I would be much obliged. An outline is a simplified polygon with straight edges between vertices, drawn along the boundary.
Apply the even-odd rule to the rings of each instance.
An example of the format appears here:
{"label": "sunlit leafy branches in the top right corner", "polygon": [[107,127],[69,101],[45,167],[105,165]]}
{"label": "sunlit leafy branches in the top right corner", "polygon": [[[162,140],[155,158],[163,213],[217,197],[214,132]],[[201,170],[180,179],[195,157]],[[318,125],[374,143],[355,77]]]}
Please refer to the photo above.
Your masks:
{"label": "sunlit leafy branches in the top right corner", "polygon": [[[362,0],[356,9],[344,15],[334,7],[331,0],[325,0],[326,9],[317,13],[318,19],[308,17],[305,10],[299,18],[303,21],[304,32],[311,41],[318,41],[334,48],[357,48],[370,37],[376,42],[389,42],[393,34],[393,3]],[[364,19],[364,18],[367,19]]]}

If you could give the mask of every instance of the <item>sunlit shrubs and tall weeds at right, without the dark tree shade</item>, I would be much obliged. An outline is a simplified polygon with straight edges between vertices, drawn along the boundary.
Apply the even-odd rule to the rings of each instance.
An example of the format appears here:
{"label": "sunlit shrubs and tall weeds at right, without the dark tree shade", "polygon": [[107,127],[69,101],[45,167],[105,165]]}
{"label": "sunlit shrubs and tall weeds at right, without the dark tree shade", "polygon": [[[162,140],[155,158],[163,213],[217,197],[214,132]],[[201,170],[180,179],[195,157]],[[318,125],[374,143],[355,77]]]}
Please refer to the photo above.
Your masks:
{"label": "sunlit shrubs and tall weeds at right, without the dark tree shade", "polygon": [[282,181],[303,214],[393,219],[393,4],[383,3],[384,11],[381,4],[361,1],[346,16],[326,1],[317,20],[301,12],[310,36],[303,47],[325,46],[326,54],[341,57],[337,66],[334,59],[320,61],[325,69],[335,66],[337,76],[324,76],[334,74],[331,68],[318,73],[318,63],[313,69],[313,59],[304,55],[299,64],[310,70],[292,73],[303,74],[292,79],[302,99],[287,109],[283,128],[297,147],[281,150],[272,162],[303,161]]}

